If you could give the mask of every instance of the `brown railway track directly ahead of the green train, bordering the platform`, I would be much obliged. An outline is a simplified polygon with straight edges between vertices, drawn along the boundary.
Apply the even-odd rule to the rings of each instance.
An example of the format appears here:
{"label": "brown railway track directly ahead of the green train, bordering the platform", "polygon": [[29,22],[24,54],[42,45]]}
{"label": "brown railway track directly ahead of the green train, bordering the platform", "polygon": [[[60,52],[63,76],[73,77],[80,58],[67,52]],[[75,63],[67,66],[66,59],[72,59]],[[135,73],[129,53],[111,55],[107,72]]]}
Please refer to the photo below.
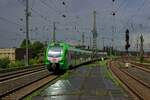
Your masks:
{"label": "brown railway track directly ahead of the green train, bordering the platform", "polygon": [[28,96],[32,92],[38,90],[39,88],[45,86],[49,82],[55,80],[58,78],[56,75],[48,75],[42,79],[39,79],[33,83],[30,83],[28,85],[25,85],[17,90],[13,90],[11,93],[4,95],[1,97],[2,100],[20,100],[23,99],[24,97]]}

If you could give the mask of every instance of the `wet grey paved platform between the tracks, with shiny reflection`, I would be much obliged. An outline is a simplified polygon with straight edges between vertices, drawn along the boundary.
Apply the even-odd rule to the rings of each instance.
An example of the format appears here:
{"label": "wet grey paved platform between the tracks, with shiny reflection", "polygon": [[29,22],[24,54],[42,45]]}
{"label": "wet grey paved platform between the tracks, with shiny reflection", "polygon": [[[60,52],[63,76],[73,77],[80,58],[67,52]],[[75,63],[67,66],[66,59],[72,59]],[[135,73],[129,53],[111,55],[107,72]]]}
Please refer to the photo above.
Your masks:
{"label": "wet grey paved platform between the tracks, with shiny reflection", "polygon": [[131,97],[106,75],[107,68],[84,65],[52,84],[33,100],[129,100]]}

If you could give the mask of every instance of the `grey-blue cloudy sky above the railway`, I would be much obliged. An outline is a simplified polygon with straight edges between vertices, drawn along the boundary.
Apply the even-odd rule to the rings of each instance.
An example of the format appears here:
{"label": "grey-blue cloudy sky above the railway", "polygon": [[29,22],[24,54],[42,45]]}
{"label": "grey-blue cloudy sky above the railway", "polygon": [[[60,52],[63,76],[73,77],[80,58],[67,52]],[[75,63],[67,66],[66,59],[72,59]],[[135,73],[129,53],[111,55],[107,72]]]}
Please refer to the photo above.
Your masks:
{"label": "grey-blue cloudy sky above the railway", "polygon": [[[25,0],[0,0],[0,48],[19,47],[25,38],[25,5]],[[29,37],[32,42],[51,41],[56,22],[57,40],[80,43],[84,33],[85,45],[90,45],[95,10],[98,48],[124,50],[129,29],[130,49],[137,49],[142,34],[144,49],[150,50],[149,9],[150,0],[29,0]]]}

